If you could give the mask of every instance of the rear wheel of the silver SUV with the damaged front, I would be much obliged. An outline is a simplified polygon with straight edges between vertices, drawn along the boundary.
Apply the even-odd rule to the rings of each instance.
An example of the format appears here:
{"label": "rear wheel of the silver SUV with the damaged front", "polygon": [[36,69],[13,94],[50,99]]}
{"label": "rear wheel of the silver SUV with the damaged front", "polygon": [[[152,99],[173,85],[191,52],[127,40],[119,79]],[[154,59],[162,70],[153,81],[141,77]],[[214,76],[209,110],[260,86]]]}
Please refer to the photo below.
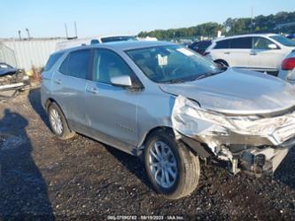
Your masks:
{"label": "rear wheel of the silver SUV with the damaged front", "polygon": [[75,133],[70,130],[66,117],[55,102],[50,104],[48,108],[48,116],[52,132],[60,139],[73,138]]}

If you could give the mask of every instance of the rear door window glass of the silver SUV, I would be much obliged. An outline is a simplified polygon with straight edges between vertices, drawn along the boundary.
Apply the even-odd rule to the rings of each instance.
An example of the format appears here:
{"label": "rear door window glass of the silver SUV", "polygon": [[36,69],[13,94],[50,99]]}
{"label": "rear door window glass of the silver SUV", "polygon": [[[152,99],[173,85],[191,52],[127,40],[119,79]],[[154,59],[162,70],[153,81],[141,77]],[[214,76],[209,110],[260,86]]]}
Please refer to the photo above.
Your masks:
{"label": "rear door window glass of the silver SUV", "polygon": [[71,52],[62,63],[59,71],[62,74],[86,79],[89,72],[90,51]]}

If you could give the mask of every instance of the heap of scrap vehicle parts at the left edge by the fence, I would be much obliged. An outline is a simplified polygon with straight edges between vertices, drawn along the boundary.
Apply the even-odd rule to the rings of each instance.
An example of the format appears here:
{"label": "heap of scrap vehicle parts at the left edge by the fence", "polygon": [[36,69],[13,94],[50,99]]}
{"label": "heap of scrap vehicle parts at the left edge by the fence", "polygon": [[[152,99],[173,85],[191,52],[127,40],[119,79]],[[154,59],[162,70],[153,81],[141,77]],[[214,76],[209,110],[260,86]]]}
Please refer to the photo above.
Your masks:
{"label": "heap of scrap vehicle parts at the left edge by the fence", "polygon": [[24,72],[5,63],[0,63],[0,100],[14,97],[29,85],[29,77]]}

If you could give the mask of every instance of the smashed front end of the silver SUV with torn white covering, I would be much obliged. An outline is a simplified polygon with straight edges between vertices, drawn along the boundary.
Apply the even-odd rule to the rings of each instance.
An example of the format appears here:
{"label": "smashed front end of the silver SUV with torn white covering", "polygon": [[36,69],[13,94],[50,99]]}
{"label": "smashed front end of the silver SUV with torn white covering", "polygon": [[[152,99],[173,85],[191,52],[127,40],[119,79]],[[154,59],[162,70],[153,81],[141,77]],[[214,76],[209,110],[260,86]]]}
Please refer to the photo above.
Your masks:
{"label": "smashed front end of the silver SUV with torn white covering", "polygon": [[178,96],[172,113],[176,138],[200,156],[228,162],[229,170],[273,173],[295,144],[295,108],[271,114],[223,114]]}

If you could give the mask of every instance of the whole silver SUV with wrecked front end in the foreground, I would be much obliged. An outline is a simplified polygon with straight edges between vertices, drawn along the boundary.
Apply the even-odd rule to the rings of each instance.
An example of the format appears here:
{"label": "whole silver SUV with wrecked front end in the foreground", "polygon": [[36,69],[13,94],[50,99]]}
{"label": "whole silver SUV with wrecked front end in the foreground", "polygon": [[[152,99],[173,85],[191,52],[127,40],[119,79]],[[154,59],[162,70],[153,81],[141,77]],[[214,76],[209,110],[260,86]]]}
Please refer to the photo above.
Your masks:
{"label": "whole silver SUV with wrecked front end in the foreground", "polygon": [[77,132],[142,157],[169,199],[196,188],[199,159],[260,175],[274,172],[294,143],[291,84],[216,66],[174,43],[58,51],[43,71],[42,103],[58,138]]}

